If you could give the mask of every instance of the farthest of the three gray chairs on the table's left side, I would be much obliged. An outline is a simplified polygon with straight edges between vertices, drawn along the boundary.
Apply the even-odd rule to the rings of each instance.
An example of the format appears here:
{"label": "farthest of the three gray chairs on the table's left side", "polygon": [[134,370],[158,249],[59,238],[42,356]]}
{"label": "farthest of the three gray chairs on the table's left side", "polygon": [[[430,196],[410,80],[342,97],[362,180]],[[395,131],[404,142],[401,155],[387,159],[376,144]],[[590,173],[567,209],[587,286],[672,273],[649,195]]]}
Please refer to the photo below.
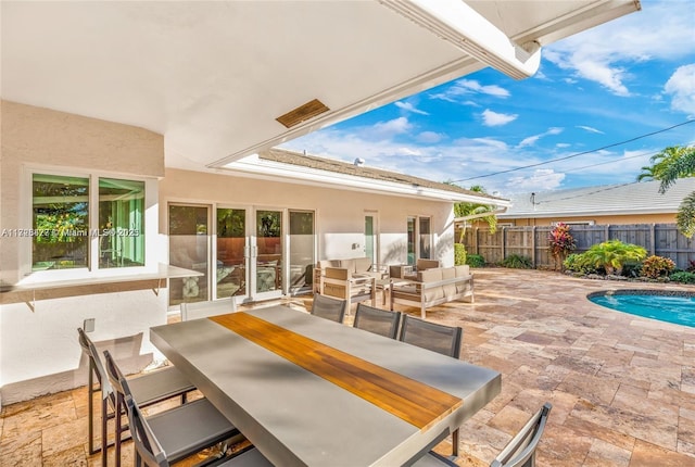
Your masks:
{"label": "farthest of the three gray chairs on the table's left side", "polygon": [[[118,412],[116,409],[116,396],[113,392],[111,384],[109,383],[109,377],[104,369],[103,362],[97,346],[87,333],[77,328],[79,345],[83,348],[83,352],[87,355],[89,361],[89,376],[87,382],[87,395],[88,395],[88,433],[89,433],[89,454],[96,454],[101,451],[101,465],[106,467],[108,456],[106,449],[111,445],[115,445],[116,451],[116,466],[121,465],[121,443],[123,440],[123,432],[127,430],[127,427],[116,424],[121,427],[115,434],[113,444],[108,443],[108,422],[112,418],[116,418],[116,414],[125,415],[125,409]],[[94,387],[94,377],[97,378],[98,387]],[[140,405],[147,407],[169,399],[180,397],[181,404],[186,403],[187,394],[190,391],[195,390],[195,387],[181,374],[176,367],[168,366],[164,369],[148,373],[135,378],[129,379],[130,389],[136,397],[138,397]],[[100,392],[101,395],[101,445],[94,447],[94,392]],[[125,407],[123,407],[125,408]],[[121,417],[117,417],[121,418]]]}

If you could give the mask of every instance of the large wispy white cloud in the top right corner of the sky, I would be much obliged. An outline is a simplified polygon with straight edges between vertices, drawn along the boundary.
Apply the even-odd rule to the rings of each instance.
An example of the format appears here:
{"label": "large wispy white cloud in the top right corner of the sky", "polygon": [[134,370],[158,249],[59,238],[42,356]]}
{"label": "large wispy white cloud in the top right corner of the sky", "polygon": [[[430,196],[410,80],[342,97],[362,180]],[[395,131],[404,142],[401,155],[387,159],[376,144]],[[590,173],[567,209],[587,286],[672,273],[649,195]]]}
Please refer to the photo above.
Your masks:
{"label": "large wispy white cloud in the top right corner of the sky", "polygon": [[[642,2],[643,11],[570,36],[544,49],[544,59],[573,77],[598,83],[617,96],[630,96],[626,66],[653,59],[678,59],[692,48],[692,1]],[[649,27],[645,28],[648,16]]]}

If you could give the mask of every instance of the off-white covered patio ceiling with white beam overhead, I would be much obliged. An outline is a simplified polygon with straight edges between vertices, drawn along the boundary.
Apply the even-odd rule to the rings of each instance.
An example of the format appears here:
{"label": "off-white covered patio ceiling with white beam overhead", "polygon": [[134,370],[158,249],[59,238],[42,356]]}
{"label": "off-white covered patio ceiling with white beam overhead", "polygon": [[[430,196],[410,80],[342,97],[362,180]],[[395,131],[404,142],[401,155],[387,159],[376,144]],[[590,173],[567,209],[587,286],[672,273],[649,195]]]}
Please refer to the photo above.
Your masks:
{"label": "off-white covered patio ceiling with white beam overhead", "polygon": [[164,135],[166,166],[205,171],[485,66],[532,75],[543,46],[640,3],[2,1],[0,8],[2,99],[150,129]]}

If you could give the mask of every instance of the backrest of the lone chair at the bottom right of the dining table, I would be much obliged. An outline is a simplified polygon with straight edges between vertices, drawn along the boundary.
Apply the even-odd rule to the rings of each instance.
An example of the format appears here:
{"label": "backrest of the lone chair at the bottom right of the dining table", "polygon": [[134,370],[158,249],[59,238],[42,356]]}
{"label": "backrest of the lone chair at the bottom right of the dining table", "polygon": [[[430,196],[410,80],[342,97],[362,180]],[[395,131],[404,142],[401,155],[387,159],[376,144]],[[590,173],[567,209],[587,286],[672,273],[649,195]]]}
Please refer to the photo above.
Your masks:
{"label": "backrest of the lone chair at the bottom right of the dining table", "polygon": [[547,417],[553,405],[546,402],[539,412],[521,428],[516,437],[490,464],[490,467],[533,467],[535,450],[543,436]]}

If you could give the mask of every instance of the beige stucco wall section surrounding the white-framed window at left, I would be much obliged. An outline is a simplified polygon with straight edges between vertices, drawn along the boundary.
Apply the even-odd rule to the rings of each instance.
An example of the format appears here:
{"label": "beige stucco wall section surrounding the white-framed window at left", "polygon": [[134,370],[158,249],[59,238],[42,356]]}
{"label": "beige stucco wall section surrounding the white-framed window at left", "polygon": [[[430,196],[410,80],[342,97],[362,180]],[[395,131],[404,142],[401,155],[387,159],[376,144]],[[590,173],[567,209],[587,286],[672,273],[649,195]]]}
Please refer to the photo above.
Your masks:
{"label": "beige stucco wall section surrounding the white-framed window at left", "polygon": [[[164,175],[161,135],[94,118],[2,101],[0,159],[0,404],[74,388],[86,382],[86,361],[77,343],[76,328],[96,319],[96,342],[111,342],[124,358],[126,370],[147,364],[154,352],[143,329],[166,323],[166,289],[126,290],[97,281],[98,272],[65,270],[70,280],[91,292],[51,288],[37,300],[12,299],[14,285],[30,270],[30,237],[13,235],[31,228],[31,181],[28,169],[98,173],[127,178],[149,177],[144,222],[147,267],[156,269],[156,177]],[[154,189],[152,189],[154,187]],[[63,273],[63,272],[58,272]],[[31,274],[35,276],[37,273]],[[132,270],[128,274],[132,275]],[[31,277],[29,277],[31,278]],[[58,280],[53,276],[51,280]],[[7,292],[7,293],[5,293]],[[31,291],[28,292],[31,294]],[[40,299],[39,299],[40,298]],[[127,358],[130,356],[130,358]],[[149,361],[152,359],[150,355]]]}

